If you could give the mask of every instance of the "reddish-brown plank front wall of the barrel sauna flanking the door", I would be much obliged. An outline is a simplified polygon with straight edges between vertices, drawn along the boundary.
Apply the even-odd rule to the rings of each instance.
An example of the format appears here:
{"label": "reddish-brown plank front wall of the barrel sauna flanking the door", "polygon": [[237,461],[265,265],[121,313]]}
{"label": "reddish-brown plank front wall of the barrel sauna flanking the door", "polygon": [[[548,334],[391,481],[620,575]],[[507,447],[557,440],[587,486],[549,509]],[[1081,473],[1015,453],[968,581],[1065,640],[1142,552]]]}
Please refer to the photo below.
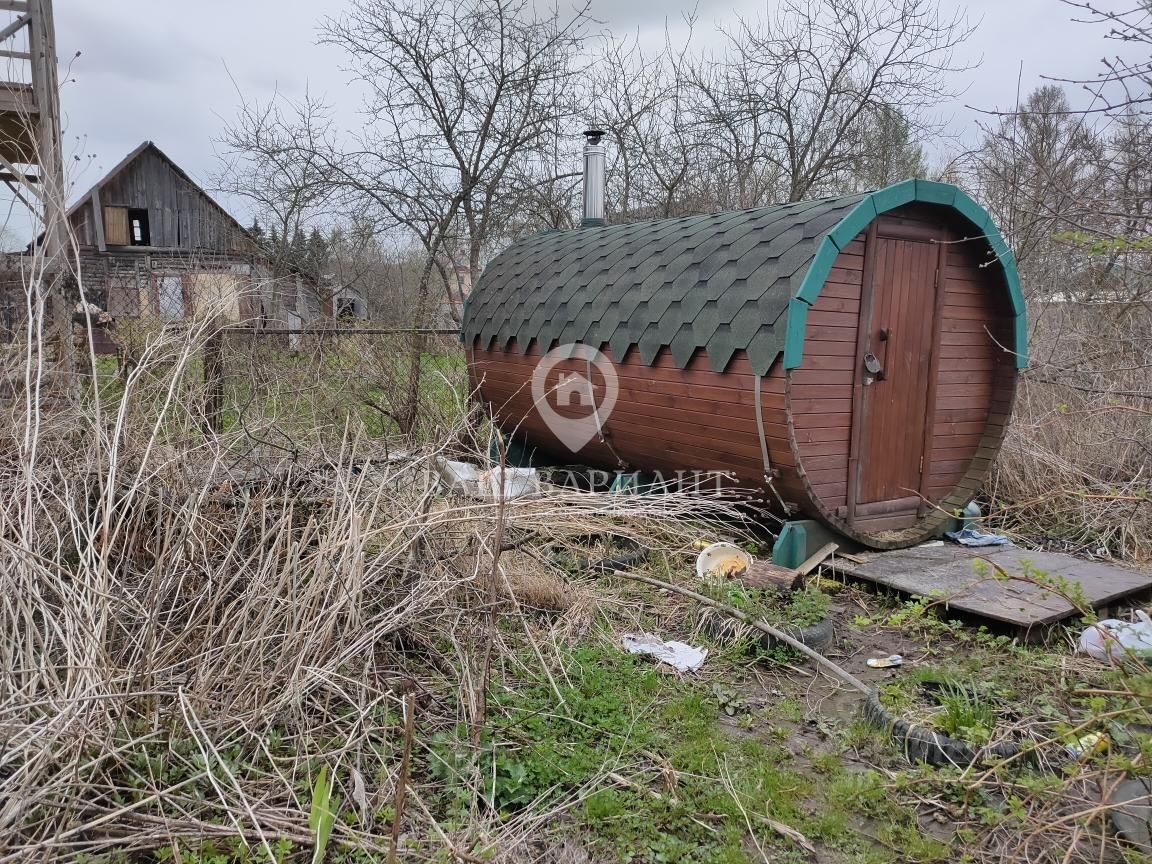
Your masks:
{"label": "reddish-brown plank front wall of the barrel sauna flanking the door", "polygon": [[[878,220],[878,229],[935,234],[943,250],[943,305],[933,333],[937,387],[929,407],[923,488],[933,503],[978,484],[994,458],[1015,392],[1011,311],[980,242],[964,243],[961,230],[942,226],[931,211],[907,207]],[[836,258],[809,313],[804,361],[788,376],[789,419],[801,471],[826,518],[847,507],[852,439],[852,388],[861,364],[857,326],[864,283],[865,233]],[[842,514],[841,514],[842,515]],[[839,520],[835,520],[839,521]]]}

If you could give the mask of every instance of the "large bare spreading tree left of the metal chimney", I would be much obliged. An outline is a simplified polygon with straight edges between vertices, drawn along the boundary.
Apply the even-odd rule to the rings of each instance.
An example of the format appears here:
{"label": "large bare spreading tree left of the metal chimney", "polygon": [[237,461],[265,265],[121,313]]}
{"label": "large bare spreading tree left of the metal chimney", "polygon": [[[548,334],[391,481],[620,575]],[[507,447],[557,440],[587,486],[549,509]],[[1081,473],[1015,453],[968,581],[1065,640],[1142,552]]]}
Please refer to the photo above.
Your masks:
{"label": "large bare spreading tree left of the metal chimney", "polygon": [[[553,182],[556,138],[579,107],[586,6],[539,15],[529,0],[353,0],[321,25],[367,92],[366,124],[341,135],[325,108],[243,108],[227,139],[240,190],[287,225],[318,202],[422,251],[407,321],[458,316],[461,264],[475,279],[526,190]],[[268,157],[273,157],[268,159]],[[260,172],[267,165],[268,175]],[[318,197],[313,197],[313,192]],[[435,296],[444,303],[437,303]],[[411,340],[407,431],[423,341]]]}

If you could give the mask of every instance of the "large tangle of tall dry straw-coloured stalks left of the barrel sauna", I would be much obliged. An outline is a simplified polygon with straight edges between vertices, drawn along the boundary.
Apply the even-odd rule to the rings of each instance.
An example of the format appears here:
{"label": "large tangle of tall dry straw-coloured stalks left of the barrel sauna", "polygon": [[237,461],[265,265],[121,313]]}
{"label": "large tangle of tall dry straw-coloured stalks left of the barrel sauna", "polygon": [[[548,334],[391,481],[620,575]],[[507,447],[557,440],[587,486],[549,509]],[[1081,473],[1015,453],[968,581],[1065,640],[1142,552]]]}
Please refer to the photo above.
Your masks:
{"label": "large tangle of tall dry straw-coloured stalks left of the barrel sauna", "polygon": [[[462,455],[467,425],[400,456],[353,426],[295,460],[252,429],[205,437],[192,367],[210,332],[157,334],[114,400],[9,402],[0,862],[213,836],[274,861],[312,844],[321,767],[359,813],[333,842],[385,855],[404,700],[479,730],[524,639],[555,666],[563,628],[533,616],[590,620],[588,586],[543,550],[605,531],[661,545],[679,517],[732,515],[699,495],[446,499],[437,441]],[[528,812],[477,810],[469,847],[515,850],[547,818]],[[397,824],[412,854],[455,848],[415,785]]]}

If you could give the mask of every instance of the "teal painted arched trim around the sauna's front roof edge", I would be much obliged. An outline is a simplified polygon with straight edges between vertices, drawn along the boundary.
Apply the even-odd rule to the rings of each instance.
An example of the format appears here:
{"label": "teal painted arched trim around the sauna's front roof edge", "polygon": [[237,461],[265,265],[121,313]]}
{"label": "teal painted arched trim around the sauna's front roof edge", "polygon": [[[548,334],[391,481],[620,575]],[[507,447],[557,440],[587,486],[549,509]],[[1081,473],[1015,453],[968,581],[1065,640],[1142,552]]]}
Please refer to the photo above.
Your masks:
{"label": "teal painted arched trim around the sauna's front roof edge", "polygon": [[796,296],[788,302],[788,323],[785,331],[785,369],[797,369],[804,362],[804,329],[808,325],[808,309],[816,303],[824,288],[828,273],[835,264],[840,250],[859,234],[867,225],[882,213],[912,202],[949,206],[985,236],[993,253],[996,256],[1008,288],[1014,321],[1016,367],[1028,365],[1028,310],[1024,305],[1024,294],[1020,286],[1020,274],[1016,272],[1016,259],[996,229],[992,217],[979,204],[972,200],[962,189],[949,183],[935,183],[929,180],[905,180],[902,183],[879,189],[841,219],[828,232],[816,250],[804,280]]}

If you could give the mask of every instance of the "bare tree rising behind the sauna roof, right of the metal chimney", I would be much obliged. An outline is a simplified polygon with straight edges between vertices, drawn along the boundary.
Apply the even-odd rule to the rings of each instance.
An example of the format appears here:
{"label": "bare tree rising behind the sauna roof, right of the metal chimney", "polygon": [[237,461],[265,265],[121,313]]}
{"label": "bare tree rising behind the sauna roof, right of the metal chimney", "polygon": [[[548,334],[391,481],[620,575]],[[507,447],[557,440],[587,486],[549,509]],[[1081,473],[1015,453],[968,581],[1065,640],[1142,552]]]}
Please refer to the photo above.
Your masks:
{"label": "bare tree rising behind the sauna roof, right of the metal chimney", "polygon": [[786,0],[728,32],[707,86],[710,124],[775,167],[781,197],[838,191],[867,156],[863,131],[878,112],[899,108],[914,138],[932,128],[929,112],[955,94],[948,76],[964,69],[953,52],[971,32],[933,0]]}

